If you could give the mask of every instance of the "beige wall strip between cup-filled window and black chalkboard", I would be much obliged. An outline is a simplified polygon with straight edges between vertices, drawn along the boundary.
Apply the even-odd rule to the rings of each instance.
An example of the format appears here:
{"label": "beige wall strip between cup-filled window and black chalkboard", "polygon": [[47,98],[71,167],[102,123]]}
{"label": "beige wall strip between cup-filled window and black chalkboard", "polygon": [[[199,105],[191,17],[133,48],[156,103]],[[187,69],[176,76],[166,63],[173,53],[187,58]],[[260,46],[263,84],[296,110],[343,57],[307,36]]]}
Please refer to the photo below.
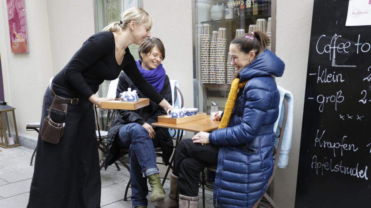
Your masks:
{"label": "beige wall strip between cup-filled window and black chalkboard", "polygon": [[293,136],[289,165],[278,168],[274,198],[279,207],[295,205],[301,125],[303,118],[306,70],[312,24],[313,1],[277,1],[276,54],[285,61],[286,68],[277,84],[294,96]]}

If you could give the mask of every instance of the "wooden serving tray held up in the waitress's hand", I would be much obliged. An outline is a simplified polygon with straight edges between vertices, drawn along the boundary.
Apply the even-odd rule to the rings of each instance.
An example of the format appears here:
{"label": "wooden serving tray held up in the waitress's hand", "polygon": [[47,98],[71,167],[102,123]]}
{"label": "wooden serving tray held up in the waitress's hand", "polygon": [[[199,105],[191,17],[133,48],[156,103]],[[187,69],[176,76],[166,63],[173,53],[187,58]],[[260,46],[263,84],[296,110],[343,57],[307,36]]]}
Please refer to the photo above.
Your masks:
{"label": "wooden serving tray held up in the waitress's hand", "polygon": [[102,102],[101,108],[105,109],[119,109],[119,110],[137,110],[150,104],[150,99],[139,98],[137,102],[120,101],[120,98],[115,100]]}

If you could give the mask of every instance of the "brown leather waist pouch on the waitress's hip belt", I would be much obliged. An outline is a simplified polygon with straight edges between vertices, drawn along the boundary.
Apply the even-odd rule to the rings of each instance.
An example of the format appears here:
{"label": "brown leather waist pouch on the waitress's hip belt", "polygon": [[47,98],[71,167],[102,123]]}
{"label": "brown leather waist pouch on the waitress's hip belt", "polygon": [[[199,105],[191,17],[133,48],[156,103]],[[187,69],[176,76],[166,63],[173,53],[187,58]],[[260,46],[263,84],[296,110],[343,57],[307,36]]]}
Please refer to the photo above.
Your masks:
{"label": "brown leather waist pouch on the waitress's hip belt", "polygon": [[59,97],[55,95],[51,87],[49,89],[54,99],[42,123],[40,137],[46,142],[58,144],[65,128],[64,121],[67,115],[68,100],[71,99]]}

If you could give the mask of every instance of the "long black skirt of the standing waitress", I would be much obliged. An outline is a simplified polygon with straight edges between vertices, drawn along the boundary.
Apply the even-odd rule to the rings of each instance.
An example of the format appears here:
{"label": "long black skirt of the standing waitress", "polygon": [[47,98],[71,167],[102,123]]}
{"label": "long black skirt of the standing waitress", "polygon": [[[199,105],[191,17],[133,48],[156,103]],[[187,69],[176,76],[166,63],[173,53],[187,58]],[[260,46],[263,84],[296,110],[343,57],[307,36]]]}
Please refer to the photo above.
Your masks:
{"label": "long black skirt of the standing waitress", "polygon": [[[41,121],[52,101],[47,88]],[[29,208],[100,207],[101,177],[92,103],[79,100],[76,105],[68,104],[65,124],[58,144],[38,137]]]}

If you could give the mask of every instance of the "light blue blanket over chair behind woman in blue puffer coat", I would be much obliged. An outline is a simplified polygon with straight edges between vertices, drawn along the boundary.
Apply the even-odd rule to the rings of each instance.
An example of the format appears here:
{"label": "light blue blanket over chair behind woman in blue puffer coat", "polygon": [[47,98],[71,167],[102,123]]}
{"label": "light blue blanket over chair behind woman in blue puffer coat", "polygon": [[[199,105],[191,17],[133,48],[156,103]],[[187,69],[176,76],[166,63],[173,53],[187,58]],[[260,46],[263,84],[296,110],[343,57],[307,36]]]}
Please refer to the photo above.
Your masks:
{"label": "light blue blanket over chair behind woman in blue puffer coat", "polygon": [[[278,120],[274,124],[274,131],[276,132],[276,135],[280,134],[280,130],[278,128],[278,125],[282,126],[283,122],[283,114],[285,113],[285,105],[283,105],[283,98],[286,97],[287,104],[288,104],[288,112],[287,112],[287,119],[286,119],[286,126],[285,126],[285,132],[283,132],[283,138],[282,138],[282,145],[280,150],[280,156],[278,159],[277,167],[279,168],[286,168],[289,163],[289,153],[291,149],[291,141],[292,141],[292,124],[293,124],[293,96],[292,93],[288,90],[283,89],[280,86],[277,86],[279,94],[280,94],[280,103],[279,103],[279,114],[278,114]],[[278,140],[279,138],[275,139],[275,146],[278,147]]]}

